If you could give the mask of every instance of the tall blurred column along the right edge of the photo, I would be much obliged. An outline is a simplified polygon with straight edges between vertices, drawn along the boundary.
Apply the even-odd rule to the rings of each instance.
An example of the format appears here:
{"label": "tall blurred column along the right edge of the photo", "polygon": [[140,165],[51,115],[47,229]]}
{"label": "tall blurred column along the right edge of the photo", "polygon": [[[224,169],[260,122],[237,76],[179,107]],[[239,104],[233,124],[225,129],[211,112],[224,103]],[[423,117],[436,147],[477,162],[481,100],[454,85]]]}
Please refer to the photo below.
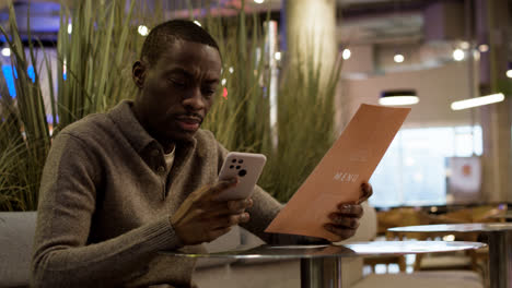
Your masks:
{"label": "tall blurred column along the right edge of the photo", "polygon": [[[487,32],[480,32],[480,41],[487,40],[490,47],[488,55],[482,55],[480,71],[484,83],[481,94],[503,93],[505,100],[480,108],[484,136],[482,153],[482,193],[489,202],[512,202],[512,92],[511,80],[507,79],[508,36],[511,29],[510,4],[507,0],[477,1],[477,7],[485,13]],[[478,10],[477,10],[478,11]]]}

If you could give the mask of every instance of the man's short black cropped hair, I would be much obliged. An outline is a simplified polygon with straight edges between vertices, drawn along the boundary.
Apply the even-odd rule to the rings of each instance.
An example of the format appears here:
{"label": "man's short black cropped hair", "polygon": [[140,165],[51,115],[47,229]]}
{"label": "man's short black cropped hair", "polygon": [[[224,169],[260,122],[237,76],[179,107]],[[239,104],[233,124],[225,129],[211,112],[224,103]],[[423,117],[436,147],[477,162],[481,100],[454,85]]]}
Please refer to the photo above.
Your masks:
{"label": "man's short black cropped hair", "polygon": [[206,29],[191,21],[171,20],[151,29],[142,45],[140,59],[148,60],[150,65],[155,64],[168,45],[177,39],[205,44],[220,53],[216,39]]}

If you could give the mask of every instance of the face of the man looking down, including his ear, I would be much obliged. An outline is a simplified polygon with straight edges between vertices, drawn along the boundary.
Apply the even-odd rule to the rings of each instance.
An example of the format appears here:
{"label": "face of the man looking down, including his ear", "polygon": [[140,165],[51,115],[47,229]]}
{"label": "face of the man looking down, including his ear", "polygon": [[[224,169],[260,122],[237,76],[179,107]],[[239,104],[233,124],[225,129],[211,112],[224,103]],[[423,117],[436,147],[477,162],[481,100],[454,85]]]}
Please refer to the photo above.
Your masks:
{"label": "face of the man looking down, including his ear", "polygon": [[136,62],[132,72],[141,89],[133,104],[136,117],[166,148],[199,129],[213,104],[221,59],[213,47],[175,40],[156,63]]}

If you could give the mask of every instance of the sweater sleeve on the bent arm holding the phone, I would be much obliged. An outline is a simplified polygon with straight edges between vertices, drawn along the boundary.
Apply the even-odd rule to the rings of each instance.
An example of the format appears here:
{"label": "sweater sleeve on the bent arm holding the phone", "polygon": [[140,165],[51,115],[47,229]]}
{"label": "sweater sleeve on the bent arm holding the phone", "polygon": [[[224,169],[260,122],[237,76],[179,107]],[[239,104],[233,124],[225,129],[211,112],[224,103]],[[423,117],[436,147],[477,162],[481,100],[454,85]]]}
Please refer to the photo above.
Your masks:
{"label": "sweater sleeve on the bent arm holding the phone", "polygon": [[61,132],[54,140],[39,190],[33,286],[118,286],[140,274],[156,251],[181,247],[168,217],[89,243],[102,178],[97,167],[98,158],[79,139]]}

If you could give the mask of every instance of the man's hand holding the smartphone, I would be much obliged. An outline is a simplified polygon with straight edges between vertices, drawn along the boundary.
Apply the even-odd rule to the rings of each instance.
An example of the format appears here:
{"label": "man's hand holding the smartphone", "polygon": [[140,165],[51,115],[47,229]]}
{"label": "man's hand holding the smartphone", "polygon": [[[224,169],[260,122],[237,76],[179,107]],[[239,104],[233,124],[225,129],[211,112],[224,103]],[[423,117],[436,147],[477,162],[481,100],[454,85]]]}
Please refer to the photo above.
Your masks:
{"label": "man's hand holding the smartphone", "polygon": [[249,220],[246,208],[253,205],[252,199],[217,201],[224,190],[235,187],[237,179],[222,180],[194,191],[177,212],[171,224],[185,245],[210,242],[230,231],[231,227]]}

